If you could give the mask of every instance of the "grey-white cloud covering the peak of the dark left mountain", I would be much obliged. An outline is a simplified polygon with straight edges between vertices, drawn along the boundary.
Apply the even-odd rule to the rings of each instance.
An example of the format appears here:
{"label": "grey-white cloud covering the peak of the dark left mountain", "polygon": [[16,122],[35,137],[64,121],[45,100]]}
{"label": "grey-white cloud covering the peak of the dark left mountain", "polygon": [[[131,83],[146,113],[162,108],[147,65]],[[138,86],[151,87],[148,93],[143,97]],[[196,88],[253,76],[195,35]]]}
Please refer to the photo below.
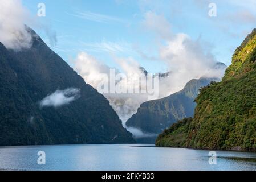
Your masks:
{"label": "grey-white cloud covering the peak of the dark left mountain", "polygon": [[27,26],[43,30],[51,46],[56,46],[56,32],[48,22],[32,16],[21,0],[0,1],[0,42],[8,49],[21,51],[32,46],[33,36]]}

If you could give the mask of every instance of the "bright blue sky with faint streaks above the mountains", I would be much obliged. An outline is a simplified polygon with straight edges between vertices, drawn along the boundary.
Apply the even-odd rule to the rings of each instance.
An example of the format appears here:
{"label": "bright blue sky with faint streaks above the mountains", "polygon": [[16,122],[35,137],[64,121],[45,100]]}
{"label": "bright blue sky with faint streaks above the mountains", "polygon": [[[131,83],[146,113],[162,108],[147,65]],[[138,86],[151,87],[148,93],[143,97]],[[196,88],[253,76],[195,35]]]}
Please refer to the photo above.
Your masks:
{"label": "bright blue sky with faint streaks above the mountains", "polygon": [[[151,73],[165,72],[169,68],[159,57],[159,45],[178,33],[200,40],[217,61],[229,65],[235,48],[256,27],[251,0],[22,1],[32,16],[40,2],[46,5],[46,17],[36,19],[46,28],[31,27],[71,66],[78,53],[87,52],[110,67],[118,67],[115,56],[132,57]],[[208,15],[210,2],[217,5],[216,17]],[[157,16],[149,26],[147,14]]]}

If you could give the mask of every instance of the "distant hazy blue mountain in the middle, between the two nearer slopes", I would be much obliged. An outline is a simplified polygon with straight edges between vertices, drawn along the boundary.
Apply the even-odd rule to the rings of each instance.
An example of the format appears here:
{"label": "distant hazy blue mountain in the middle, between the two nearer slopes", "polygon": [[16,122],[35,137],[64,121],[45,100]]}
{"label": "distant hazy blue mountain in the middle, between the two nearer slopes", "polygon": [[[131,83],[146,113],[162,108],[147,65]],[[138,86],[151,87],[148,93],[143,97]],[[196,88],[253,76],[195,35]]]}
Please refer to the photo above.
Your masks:
{"label": "distant hazy blue mountain in the middle, between the two nearer slopes", "polygon": [[[198,90],[215,79],[200,78],[190,80],[180,92],[171,94],[159,100],[144,102],[140,105],[137,113],[128,119],[128,128],[136,128],[145,134],[160,134],[174,122],[192,117],[196,103],[194,99]],[[150,142],[155,143],[156,135],[149,137]],[[139,139],[141,142],[141,139]],[[145,138],[143,139],[145,142]]]}

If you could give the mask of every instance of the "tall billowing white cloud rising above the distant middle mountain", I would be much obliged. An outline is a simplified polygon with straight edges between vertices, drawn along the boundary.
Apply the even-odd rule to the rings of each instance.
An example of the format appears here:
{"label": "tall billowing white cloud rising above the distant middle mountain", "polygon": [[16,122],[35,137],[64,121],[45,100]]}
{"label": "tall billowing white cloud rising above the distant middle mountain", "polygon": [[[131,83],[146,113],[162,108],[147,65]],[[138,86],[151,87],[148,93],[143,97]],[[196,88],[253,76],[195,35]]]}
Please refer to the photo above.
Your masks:
{"label": "tall billowing white cloud rising above the distant middle mountain", "polygon": [[209,43],[201,39],[192,40],[183,33],[173,34],[168,20],[152,11],[145,14],[141,24],[146,30],[155,32],[157,38],[161,38],[156,44],[159,48],[156,60],[164,61],[167,70],[171,71],[168,77],[160,79],[160,98],[178,92],[186,82],[194,78],[221,78],[224,75],[224,69],[214,68],[217,60]]}

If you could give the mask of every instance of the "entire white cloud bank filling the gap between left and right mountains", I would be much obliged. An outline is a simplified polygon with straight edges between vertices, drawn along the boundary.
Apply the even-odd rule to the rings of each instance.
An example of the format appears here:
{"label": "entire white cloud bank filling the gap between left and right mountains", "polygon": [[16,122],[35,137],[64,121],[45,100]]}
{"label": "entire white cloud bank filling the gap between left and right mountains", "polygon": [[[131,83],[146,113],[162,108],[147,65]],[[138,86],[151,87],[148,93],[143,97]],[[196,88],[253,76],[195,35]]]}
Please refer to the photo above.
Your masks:
{"label": "entire white cloud bank filling the gap between left and right mountains", "polygon": [[[217,60],[211,52],[210,44],[203,42],[200,38],[192,40],[183,33],[173,34],[168,20],[152,11],[145,13],[141,24],[145,30],[152,31],[156,39],[160,40],[161,44],[157,44],[157,60],[164,62],[169,72],[168,76],[159,78],[159,97],[157,98],[180,91],[192,79],[201,77],[221,79],[224,75],[225,67],[216,68]],[[140,79],[137,75],[144,73],[139,61],[132,57],[113,57],[113,60],[120,68],[120,70],[115,69],[116,73],[124,73],[131,78],[128,82],[127,80],[115,82],[117,86],[131,88],[134,82]],[[103,61],[97,60],[86,52],[79,53],[75,60],[75,70],[96,89],[100,82],[108,80],[109,69]],[[140,104],[149,100],[147,93],[103,94],[123,121],[124,126],[127,119],[136,113]]]}

